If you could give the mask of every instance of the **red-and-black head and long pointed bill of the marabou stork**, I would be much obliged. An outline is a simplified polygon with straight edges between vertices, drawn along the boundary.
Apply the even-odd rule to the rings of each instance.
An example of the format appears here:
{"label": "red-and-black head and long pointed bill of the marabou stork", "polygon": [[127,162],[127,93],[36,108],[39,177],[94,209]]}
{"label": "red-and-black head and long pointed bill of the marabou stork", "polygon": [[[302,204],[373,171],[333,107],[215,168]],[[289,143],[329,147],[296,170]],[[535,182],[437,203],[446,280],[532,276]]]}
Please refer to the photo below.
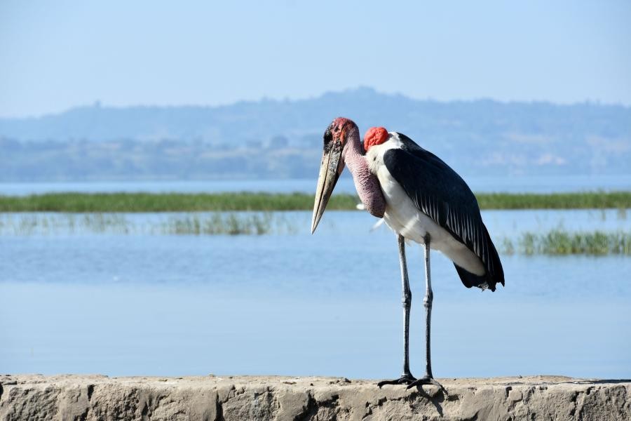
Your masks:
{"label": "red-and-black head and long pointed bill of the marabou stork", "polygon": [[313,204],[313,220],[311,220],[311,234],[318,227],[318,222],[329,203],[333,188],[339,175],[344,170],[344,146],[351,135],[358,136],[357,125],[349,119],[338,117],[334,119],[324,134],[324,152],[320,163],[318,186],[315,188],[315,203]]}

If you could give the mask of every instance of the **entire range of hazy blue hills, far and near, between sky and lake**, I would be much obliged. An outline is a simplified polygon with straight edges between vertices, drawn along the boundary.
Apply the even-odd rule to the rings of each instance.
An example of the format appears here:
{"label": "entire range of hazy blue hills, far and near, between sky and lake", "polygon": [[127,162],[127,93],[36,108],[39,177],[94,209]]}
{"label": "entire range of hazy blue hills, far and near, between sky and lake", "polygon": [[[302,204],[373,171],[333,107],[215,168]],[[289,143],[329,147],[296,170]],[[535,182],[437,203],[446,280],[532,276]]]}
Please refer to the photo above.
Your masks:
{"label": "entire range of hazy blue hills, far and near, between sky and lake", "polygon": [[385,126],[463,175],[631,173],[631,107],[437,102],[370,88],[222,107],[78,107],[0,119],[0,180],[314,177],[335,116]]}

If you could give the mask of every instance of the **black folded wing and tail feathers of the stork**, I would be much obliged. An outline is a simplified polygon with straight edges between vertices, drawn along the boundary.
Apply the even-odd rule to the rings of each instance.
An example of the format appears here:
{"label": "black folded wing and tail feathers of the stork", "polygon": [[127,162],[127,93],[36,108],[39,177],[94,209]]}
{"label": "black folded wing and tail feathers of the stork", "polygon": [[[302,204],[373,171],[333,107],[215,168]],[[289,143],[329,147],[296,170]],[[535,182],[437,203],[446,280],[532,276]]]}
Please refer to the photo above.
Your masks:
{"label": "black folded wing and tail feathers of the stork", "polygon": [[502,263],[469,186],[442,159],[397,134],[402,148],[384,154],[386,168],[416,207],[465,244],[487,269],[484,276],[476,276],[454,264],[462,283],[467,288],[487,283],[491,290],[498,282],[504,285]]}

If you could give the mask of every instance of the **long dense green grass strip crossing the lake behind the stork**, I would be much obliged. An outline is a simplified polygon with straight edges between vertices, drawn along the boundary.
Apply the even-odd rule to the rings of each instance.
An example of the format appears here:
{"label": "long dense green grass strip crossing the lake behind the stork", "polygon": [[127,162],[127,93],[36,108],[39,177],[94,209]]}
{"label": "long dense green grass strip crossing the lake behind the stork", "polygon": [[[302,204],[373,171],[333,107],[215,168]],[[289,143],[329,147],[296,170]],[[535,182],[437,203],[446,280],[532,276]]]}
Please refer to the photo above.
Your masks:
{"label": "long dense green grass strip crossing the lake behind the stork", "polygon": [[[482,209],[631,208],[631,192],[555,194],[477,194]],[[327,209],[354,210],[355,194],[333,194]],[[0,212],[203,212],[236,210],[311,210],[313,195],[304,193],[50,193],[0,196]]]}

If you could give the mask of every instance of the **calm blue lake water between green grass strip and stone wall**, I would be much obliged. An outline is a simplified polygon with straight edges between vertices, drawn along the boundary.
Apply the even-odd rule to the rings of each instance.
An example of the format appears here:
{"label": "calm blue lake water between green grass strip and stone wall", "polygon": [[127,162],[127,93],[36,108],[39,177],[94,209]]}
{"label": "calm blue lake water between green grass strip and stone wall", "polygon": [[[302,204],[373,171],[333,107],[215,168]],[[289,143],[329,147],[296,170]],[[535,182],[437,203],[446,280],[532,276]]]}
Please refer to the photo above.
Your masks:
{"label": "calm blue lake water between green grass strip and stone wall", "polygon": [[[313,181],[313,180],[311,180]],[[143,220],[169,215],[124,215]],[[15,215],[4,215],[15,218]],[[0,371],[400,374],[395,236],[365,212],[283,213],[264,236],[0,236]],[[494,238],[631,229],[616,210],[484,211]],[[422,248],[408,248],[412,371],[423,370]],[[502,256],[506,288],[462,286],[432,253],[437,377],[631,377],[631,259]]]}

